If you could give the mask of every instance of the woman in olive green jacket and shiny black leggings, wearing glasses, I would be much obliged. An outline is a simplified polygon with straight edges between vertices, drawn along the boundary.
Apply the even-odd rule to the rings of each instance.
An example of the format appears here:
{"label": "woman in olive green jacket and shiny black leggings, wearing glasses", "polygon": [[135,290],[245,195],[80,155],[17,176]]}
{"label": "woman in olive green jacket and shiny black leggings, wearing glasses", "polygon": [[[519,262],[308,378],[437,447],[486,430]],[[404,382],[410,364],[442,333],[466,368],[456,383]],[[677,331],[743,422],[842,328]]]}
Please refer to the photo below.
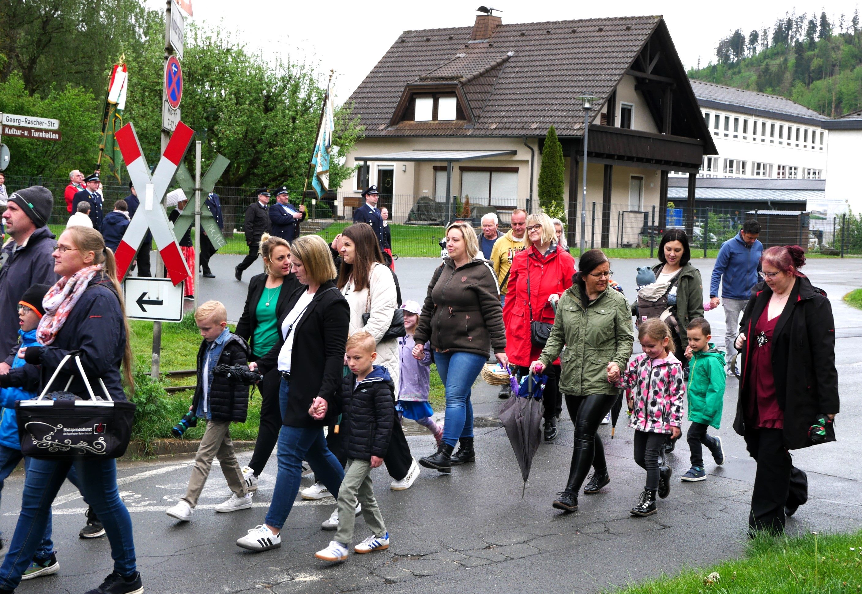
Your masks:
{"label": "woman in olive green jacket and shiny black leggings, wearing glasses", "polygon": [[598,493],[610,482],[602,439],[596,431],[619,397],[613,382],[628,365],[634,345],[628,302],[610,286],[611,274],[602,250],[584,252],[574,284],[559,298],[547,344],[539,360],[531,364],[534,372],[542,372],[563,353],[559,391],[565,394],[575,425],[575,442],[569,480],[553,502],[558,510],[578,510],[578,491],[590,466],[593,474],[584,487],[585,495]]}

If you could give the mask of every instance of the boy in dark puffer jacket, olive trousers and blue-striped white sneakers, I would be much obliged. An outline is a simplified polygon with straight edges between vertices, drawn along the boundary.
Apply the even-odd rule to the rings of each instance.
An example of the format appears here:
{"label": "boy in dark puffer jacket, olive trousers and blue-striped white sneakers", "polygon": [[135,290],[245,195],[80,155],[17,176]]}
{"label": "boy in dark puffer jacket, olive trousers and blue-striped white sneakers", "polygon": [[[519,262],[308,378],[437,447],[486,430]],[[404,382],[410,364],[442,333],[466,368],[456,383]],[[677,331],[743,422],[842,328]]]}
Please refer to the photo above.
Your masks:
{"label": "boy in dark puffer jacket, olive trousers and blue-striped white sneakers", "polygon": [[[347,339],[347,366],[352,375],[344,378],[340,395],[340,427],[345,428],[341,444],[347,453],[347,466],[338,490],[338,531],[335,540],[315,553],[324,561],[347,559],[353,541],[354,510],[357,498],[362,504],[365,524],[372,535],[353,547],[354,553],[371,553],[389,548],[389,532],[374,498],[371,472],[383,464],[395,423],[395,385],[384,366],[374,365],[374,337],[357,332]],[[357,497],[359,496],[359,497]]]}

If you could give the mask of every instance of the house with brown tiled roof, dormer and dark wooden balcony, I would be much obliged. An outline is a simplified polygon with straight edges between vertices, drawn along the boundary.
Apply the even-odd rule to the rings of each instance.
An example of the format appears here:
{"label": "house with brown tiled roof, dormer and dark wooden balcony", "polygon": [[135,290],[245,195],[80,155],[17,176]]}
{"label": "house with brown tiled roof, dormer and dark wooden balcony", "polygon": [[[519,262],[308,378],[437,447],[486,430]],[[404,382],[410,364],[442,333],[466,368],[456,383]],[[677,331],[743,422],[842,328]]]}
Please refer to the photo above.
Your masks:
{"label": "house with brown tiled roof, dormer and dark wooden balcony", "polygon": [[[504,221],[516,207],[538,209],[553,125],[572,244],[576,227],[580,236],[583,95],[597,97],[586,197],[597,219],[593,230],[588,214],[587,237],[603,247],[636,241],[643,213],[665,211],[671,171],[690,174],[693,206],[695,174],[716,150],[661,16],[508,24],[483,14],[472,27],[403,32],[353,92],[365,138],[347,154],[358,170],[340,188],[341,214],[359,206],[369,184],[394,222],[456,197]],[[635,239],[625,230],[631,221]]]}

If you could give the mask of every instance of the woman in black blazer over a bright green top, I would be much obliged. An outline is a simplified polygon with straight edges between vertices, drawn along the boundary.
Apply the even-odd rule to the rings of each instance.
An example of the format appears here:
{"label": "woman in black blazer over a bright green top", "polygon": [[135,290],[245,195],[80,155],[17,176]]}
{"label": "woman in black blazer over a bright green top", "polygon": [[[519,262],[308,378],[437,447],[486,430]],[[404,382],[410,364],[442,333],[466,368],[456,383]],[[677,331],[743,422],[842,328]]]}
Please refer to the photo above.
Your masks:
{"label": "woman in black blazer over a bright green top", "polygon": [[[252,277],[248,282],[246,307],[242,310],[240,322],[236,324],[236,335],[247,341],[252,356],[257,359],[278,342],[278,320],[287,313],[285,307],[290,296],[301,286],[297,275],[290,272],[290,244],[287,241],[263,234],[260,238],[260,255],[264,259],[266,272]],[[261,403],[258,441],[254,444],[252,460],[242,469],[246,488],[251,491],[258,488],[258,477],[278,441],[282,419],[278,410],[280,383],[281,376],[273,368],[259,384]]]}

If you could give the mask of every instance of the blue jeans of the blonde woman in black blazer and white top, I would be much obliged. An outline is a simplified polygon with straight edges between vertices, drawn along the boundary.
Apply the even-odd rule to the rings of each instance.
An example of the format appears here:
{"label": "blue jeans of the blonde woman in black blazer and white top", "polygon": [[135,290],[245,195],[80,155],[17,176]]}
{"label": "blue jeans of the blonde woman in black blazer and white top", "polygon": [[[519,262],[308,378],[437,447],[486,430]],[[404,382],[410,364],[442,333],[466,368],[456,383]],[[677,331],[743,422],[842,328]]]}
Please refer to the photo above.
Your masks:
{"label": "blue jeans of the blonde woman in black blazer and white top", "polygon": [[[290,382],[282,378],[278,403],[283,411],[287,408],[289,393]],[[290,515],[303,479],[303,460],[307,461],[315,472],[315,480],[326,485],[332,496],[338,500],[344,468],[329,451],[323,437],[323,428],[282,425],[278,433],[278,474],[275,490],[272,491],[272,503],[265,519],[266,524],[272,528],[281,529]]]}

